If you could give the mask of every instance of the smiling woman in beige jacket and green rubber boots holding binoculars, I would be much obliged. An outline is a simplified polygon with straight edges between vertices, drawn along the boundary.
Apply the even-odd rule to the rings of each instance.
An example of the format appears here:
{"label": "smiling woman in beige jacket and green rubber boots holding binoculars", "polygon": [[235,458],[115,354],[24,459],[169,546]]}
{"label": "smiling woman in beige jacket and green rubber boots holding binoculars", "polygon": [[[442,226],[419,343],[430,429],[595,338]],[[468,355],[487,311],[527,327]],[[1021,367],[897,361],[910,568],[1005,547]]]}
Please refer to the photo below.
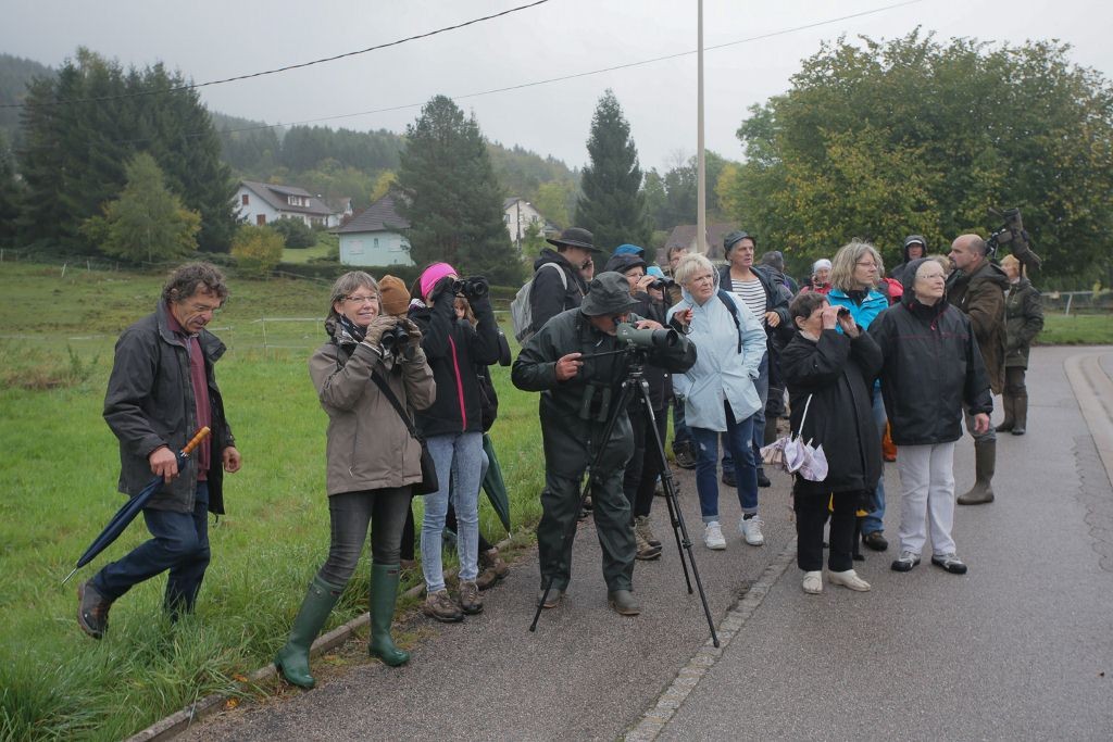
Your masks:
{"label": "smiling woman in beige jacket and green rubber boots holding binoculars", "polygon": [[[405,340],[384,347],[384,335],[397,327],[405,330]],[[328,340],[309,358],[309,376],[328,415],[328,558],[309,583],[289,639],[275,657],[283,676],[305,689],[315,684],[309,647],[355,571],[368,524],[368,651],[392,666],[410,660],[391,639],[391,621],[402,526],[410,512],[411,486],[421,482],[421,444],[383,388],[403,408],[412,409],[427,408],[435,393],[421,332],[408,319],[382,314],[378,285],[368,274],[354,270],[336,280],[325,330]]]}

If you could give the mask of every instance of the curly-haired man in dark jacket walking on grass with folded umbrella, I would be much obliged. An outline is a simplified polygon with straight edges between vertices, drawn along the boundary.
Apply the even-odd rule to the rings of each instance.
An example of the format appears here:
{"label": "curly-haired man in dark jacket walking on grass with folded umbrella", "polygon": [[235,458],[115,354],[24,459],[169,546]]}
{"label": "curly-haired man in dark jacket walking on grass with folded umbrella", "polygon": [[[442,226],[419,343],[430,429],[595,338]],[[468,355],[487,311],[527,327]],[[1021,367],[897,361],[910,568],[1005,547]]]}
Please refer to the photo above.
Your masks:
{"label": "curly-haired man in dark jacket walking on grass with folded umbrella", "polygon": [[[104,636],[112,602],[169,570],[164,605],[191,612],[209,563],[208,513],[224,513],[223,472],[240,466],[214,364],[225,346],[205,326],[228,289],[206,263],[170,275],[155,314],[124,330],[105,396],[105,421],[120,442],[119,491],[134,496],[151,475],[164,485],[144,508],[152,538],[106,565],[78,588],[78,624]],[[198,428],[213,434],[184,469],[177,453]]]}

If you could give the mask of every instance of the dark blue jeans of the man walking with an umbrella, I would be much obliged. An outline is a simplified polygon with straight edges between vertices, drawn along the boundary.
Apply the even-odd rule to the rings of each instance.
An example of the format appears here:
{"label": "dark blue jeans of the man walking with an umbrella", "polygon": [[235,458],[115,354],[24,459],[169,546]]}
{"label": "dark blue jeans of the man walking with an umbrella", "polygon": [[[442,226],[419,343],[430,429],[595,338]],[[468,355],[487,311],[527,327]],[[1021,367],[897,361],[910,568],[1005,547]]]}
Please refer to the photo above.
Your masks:
{"label": "dark blue jeans of the man walking with an umbrella", "polygon": [[154,536],[118,562],[105,565],[92,586],[116,600],[145,580],[170,571],[164,607],[189,613],[197,603],[210,552],[208,544],[208,483],[198,482],[191,513],[144,508],[144,521]]}

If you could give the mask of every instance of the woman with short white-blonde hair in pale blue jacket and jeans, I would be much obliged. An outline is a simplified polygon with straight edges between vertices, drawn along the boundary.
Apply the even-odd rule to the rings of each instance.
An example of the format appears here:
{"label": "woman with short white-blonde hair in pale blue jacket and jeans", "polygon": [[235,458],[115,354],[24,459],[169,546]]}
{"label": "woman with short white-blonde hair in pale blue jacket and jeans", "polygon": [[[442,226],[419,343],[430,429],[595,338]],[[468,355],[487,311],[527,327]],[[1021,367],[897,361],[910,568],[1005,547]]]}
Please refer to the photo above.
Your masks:
{"label": "woman with short white-blonde hair in pale blue jacket and jeans", "polygon": [[696,345],[696,365],[672,375],[672,388],[683,399],[684,419],[696,444],[696,488],[703,516],[703,543],[727,547],[719,525],[719,484],[716,466],[719,436],[731,449],[742,507],[739,532],[751,546],[765,543],[758,516],[757,466],[751,446],[754,414],[761,409],[755,385],[766,353],[761,323],[733,294],[719,288],[719,271],[707,257],[681,258],[673,277],[683,299],[669,309],[668,319]]}

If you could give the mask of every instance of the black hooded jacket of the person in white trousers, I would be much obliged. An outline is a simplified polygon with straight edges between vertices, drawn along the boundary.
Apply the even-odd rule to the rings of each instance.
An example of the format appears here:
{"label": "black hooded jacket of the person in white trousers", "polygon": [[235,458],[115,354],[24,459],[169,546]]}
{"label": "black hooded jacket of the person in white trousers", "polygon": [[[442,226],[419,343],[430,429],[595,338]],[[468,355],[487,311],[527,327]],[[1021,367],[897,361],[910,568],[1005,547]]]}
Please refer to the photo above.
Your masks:
{"label": "black hooded jacket of the person in white trousers", "polygon": [[929,307],[908,290],[900,304],[877,315],[869,334],[885,358],[881,396],[897,445],[957,441],[964,404],[972,415],[993,410],[971,321],[946,297]]}

